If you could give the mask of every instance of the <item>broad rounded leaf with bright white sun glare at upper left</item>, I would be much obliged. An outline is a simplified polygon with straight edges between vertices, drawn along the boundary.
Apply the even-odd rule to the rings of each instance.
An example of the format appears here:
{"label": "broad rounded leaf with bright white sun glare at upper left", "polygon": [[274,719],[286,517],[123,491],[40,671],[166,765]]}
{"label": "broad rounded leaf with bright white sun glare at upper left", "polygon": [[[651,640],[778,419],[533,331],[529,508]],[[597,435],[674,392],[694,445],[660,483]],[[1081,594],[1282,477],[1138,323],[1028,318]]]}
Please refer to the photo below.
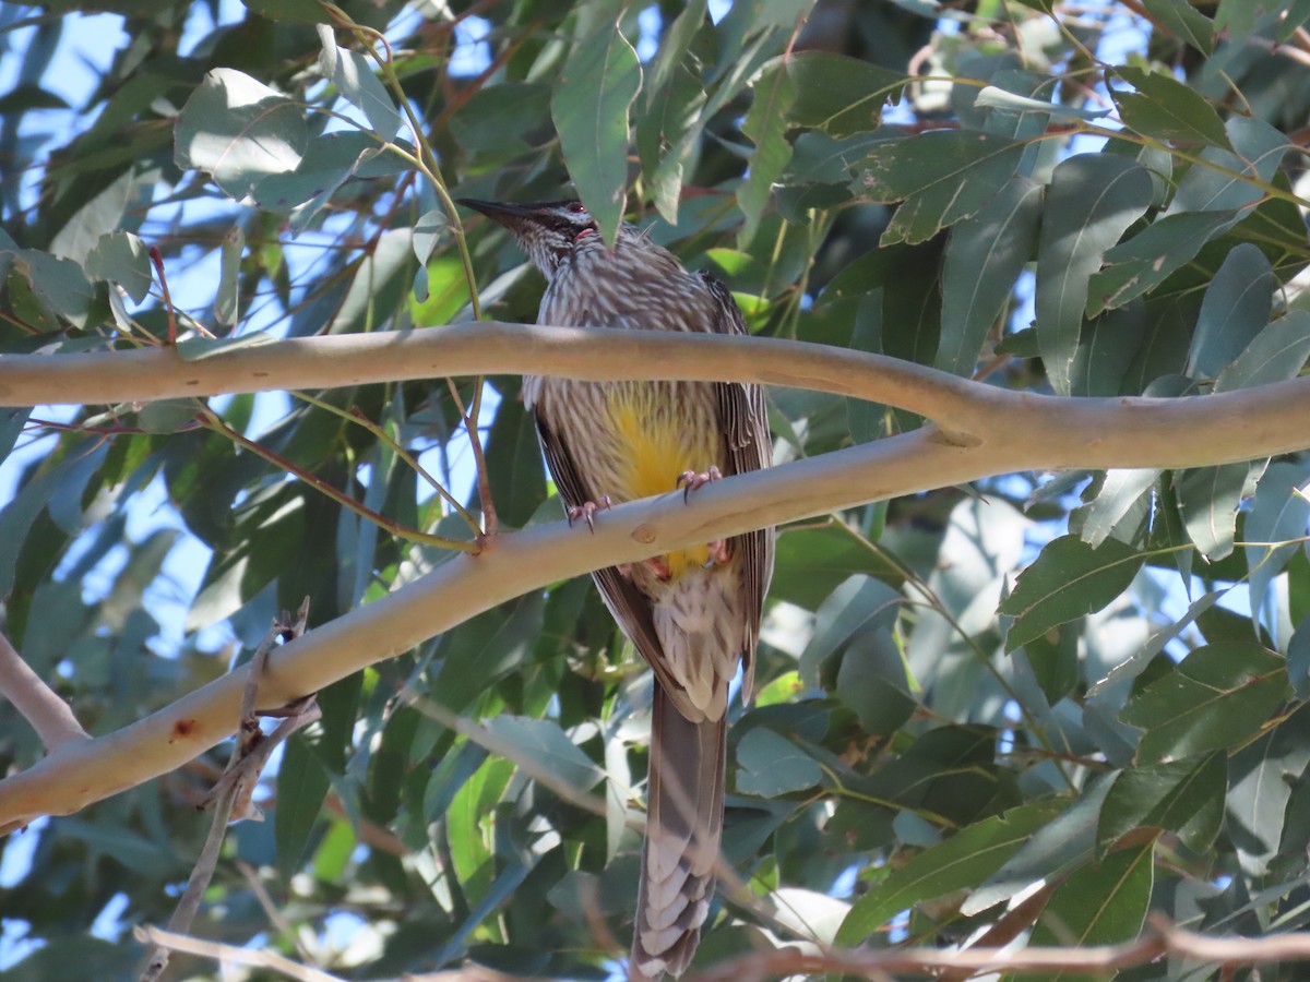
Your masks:
{"label": "broad rounded leaf with bright white sun glare at upper left", "polygon": [[244,72],[215,68],[191,93],[174,128],[174,160],[204,170],[233,199],[299,165],[308,144],[299,106]]}

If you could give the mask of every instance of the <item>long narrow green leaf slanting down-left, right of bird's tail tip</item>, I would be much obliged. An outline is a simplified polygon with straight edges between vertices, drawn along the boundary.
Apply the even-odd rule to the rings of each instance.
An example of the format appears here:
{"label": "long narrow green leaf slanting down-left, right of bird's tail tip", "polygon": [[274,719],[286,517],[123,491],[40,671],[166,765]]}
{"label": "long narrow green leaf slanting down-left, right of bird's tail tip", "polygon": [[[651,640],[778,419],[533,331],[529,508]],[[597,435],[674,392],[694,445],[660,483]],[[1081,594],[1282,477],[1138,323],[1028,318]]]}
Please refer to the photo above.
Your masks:
{"label": "long narrow green leaf slanting down-left, right of bird's tail tip", "polygon": [[861,944],[900,911],[986,879],[1062,808],[1060,801],[1011,808],[912,856],[855,901],[837,931],[836,943]]}

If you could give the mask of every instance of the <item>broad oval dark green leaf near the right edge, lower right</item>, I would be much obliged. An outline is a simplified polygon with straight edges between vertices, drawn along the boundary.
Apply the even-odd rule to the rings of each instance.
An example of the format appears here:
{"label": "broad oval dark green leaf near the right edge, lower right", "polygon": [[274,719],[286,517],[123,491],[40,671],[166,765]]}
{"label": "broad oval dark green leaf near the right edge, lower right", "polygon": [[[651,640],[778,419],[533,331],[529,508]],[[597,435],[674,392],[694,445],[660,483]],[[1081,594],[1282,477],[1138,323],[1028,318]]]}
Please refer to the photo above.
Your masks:
{"label": "broad oval dark green leaf near the right edge, lower right", "polygon": [[1286,697],[1281,656],[1252,642],[1207,644],[1137,693],[1120,719],[1145,731],[1137,759],[1161,761],[1241,742]]}

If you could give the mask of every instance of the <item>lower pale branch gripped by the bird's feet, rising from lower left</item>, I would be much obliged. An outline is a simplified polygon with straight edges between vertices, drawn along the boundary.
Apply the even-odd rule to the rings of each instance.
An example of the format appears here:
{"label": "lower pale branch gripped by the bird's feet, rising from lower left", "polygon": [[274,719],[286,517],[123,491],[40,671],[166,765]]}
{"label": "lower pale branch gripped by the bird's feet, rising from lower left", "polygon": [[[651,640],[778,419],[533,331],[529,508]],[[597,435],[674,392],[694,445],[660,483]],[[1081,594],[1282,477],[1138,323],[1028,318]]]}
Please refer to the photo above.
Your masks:
{"label": "lower pale branch gripped by the bird's feet, rising from lower left", "polygon": [[[1280,388],[1252,390],[1250,405],[1262,406],[1259,397]],[[690,504],[672,492],[616,505],[597,516],[593,534],[562,521],[500,534],[481,554],[451,556],[421,580],[279,648],[259,686],[261,708],[286,704],[506,600],[597,567],[992,474],[1074,465],[1195,466],[1310,445],[1303,411],[1285,403],[1281,416],[1297,423],[1290,428],[1264,406],[1235,422],[1197,423],[1207,403],[1226,398],[1180,399],[1158,414],[1116,410],[1115,401],[1104,401],[1076,420],[1034,411],[1003,436],[973,445],[954,444],[929,426],[718,481],[697,491]],[[1128,419],[1137,414],[1137,423],[1111,424],[1116,412]],[[244,678],[238,669],[138,723],[66,745],[0,782],[0,829],[76,812],[214,746],[236,729]]]}

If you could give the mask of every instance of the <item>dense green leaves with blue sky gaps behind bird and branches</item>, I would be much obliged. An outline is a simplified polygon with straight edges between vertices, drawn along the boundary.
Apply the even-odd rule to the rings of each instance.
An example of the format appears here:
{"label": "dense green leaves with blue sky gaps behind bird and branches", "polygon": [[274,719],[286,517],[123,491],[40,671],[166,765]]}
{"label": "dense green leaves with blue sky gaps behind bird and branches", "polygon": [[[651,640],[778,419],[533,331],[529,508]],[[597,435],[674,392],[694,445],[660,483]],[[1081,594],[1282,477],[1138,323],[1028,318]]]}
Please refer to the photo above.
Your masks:
{"label": "dense green leaves with blue sky gaps behind bird and branches", "polygon": [[[1301,0],[832,1],[799,25],[777,0],[717,22],[696,0],[343,4],[389,39],[376,76],[372,35],[338,18],[325,47],[318,4],[98,7],[124,34],[83,105],[52,75],[80,5],[0,12],[5,354],[159,343],[147,246],[183,335],[531,321],[540,278],[499,230],[465,240],[445,189],[531,200],[570,175],[610,228],[630,189],[629,217],[765,335],[1061,395],[1233,390],[1310,354]],[[435,166],[376,153],[418,153],[388,84]],[[460,403],[481,402],[500,520],[555,520],[517,386],[0,410],[4,631],[109,733],[301,597],[324,623],[451,555],[310,478],[468,542],[398,450],[477,511]],[[783,460],[920,424],[782,389],[770,416]],[[798,939],[1115,943],[1151,910],[1303,927],[1307,467],[1002,475],[783,529],[730,737],[745,886],[700,964]],[[648,686],[586,580],[345,680],[270,778],[269,821],[233,827],[196,934],[346,978],[464,958],[605,977]],[[7,769],[41,753],[0,710]],[[0,841],[8,977],[131,977],[141,952],[115,941],[166,920],[219,759]]]}

